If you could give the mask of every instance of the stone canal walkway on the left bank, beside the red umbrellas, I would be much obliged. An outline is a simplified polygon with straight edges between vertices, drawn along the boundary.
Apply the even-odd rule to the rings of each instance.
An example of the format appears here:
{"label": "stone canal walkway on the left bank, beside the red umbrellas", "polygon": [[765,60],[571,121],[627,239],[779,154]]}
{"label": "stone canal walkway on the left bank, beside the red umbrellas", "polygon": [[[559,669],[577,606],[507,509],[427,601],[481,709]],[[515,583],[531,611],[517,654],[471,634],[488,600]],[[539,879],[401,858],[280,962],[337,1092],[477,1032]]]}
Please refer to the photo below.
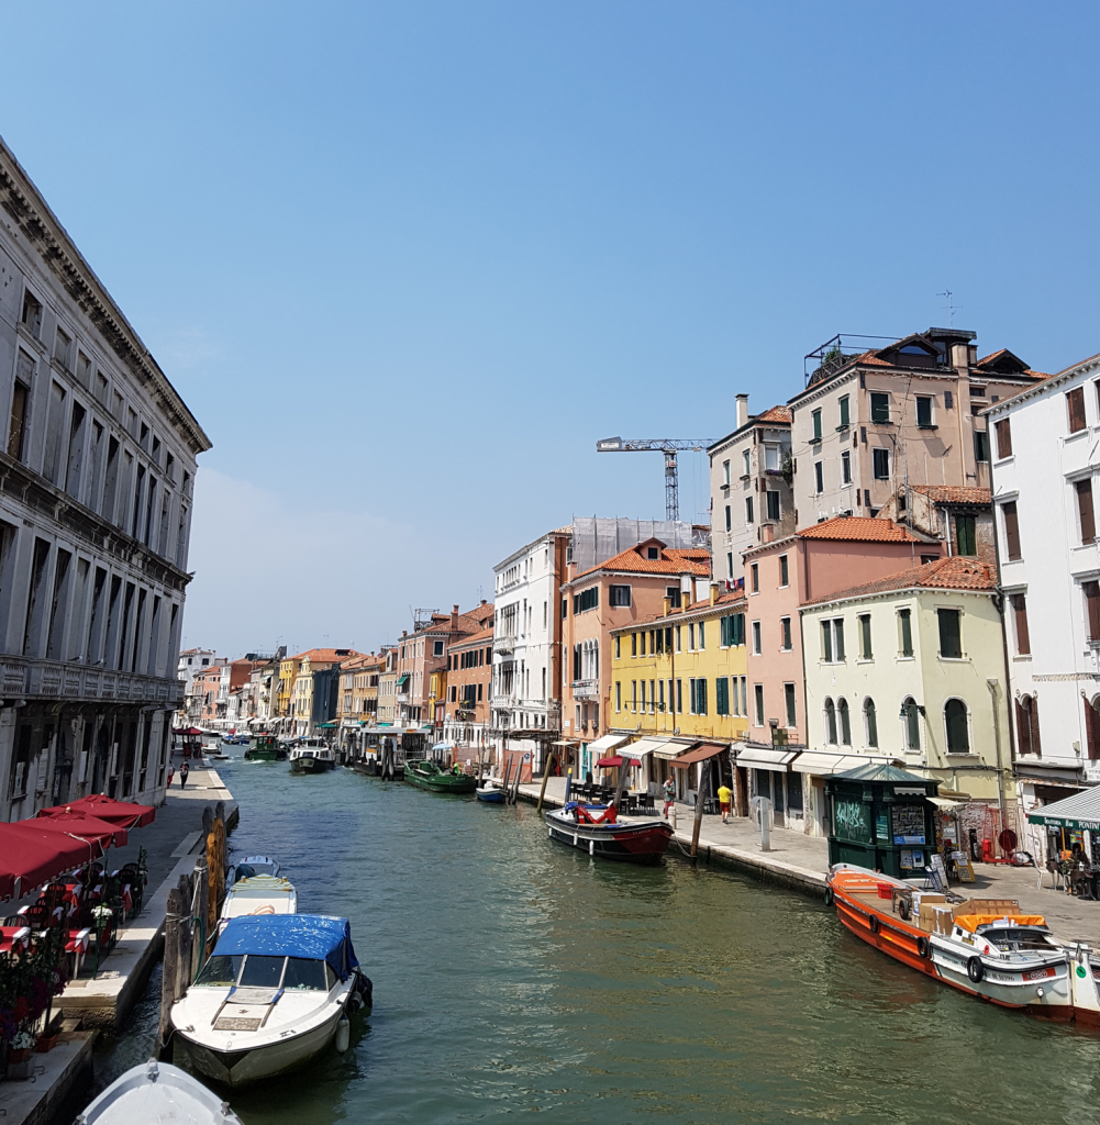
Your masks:
{"label": "stone canal walkway on the left bank, beside the red umbrellas", "polygon": [[[80,1108],[74,1102],[92,1078],[96,1036],[99,1030],[118,1030],[141,997],[161,956],[168,892],[180,875],[193,870],[206,843],[204,810],[219,801],[225,806],[226,828],[232,828],[240,814],[237,803],[217,771],[208,764],[193,765],[183,789],[177,772],[153,824],[130,831],[125,847],[108,850],[105,863],[114,871],[136,863],[139,850],[145,849],[148,885],[142,911],[119,929],[117,944],[94,978],[81,975],[70,981],[54,1000],[54,1010],[63,1016],[57,1044],[33,1056],[34,1081],[3,1083],[3,1125],[49,1125],[71,1119]],[[88,969],[85,962],[84,971]]]}

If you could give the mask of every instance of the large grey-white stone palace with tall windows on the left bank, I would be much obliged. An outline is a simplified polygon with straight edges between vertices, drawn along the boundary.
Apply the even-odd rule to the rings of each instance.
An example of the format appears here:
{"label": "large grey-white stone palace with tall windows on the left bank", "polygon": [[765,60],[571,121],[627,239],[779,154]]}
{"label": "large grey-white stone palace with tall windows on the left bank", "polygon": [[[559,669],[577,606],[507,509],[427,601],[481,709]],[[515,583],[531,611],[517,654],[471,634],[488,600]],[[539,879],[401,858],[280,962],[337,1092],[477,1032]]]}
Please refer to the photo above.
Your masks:
{"label": "large grey-white stone palace with tall windows on the left bank", "polygon": [[210,448],[0,142],[0,819],[160,803]]}

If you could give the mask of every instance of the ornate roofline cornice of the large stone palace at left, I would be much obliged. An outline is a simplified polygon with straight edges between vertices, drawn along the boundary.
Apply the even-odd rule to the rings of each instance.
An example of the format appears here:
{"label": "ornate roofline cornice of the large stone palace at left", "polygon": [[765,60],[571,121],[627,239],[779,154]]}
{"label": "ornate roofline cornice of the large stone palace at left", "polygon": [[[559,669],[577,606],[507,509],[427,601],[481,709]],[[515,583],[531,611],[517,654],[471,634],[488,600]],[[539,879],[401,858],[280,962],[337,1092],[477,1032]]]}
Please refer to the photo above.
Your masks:
{"label": "ornate roofline cornice of the large stone palace at left", "polygon": [[188,410],[152,353],[115,304],[103,284],[69,237],[30,177],[0,138],[0,207],[19,227],[62,288],[98,328],[192,453],[210,449],[210,439]]}

